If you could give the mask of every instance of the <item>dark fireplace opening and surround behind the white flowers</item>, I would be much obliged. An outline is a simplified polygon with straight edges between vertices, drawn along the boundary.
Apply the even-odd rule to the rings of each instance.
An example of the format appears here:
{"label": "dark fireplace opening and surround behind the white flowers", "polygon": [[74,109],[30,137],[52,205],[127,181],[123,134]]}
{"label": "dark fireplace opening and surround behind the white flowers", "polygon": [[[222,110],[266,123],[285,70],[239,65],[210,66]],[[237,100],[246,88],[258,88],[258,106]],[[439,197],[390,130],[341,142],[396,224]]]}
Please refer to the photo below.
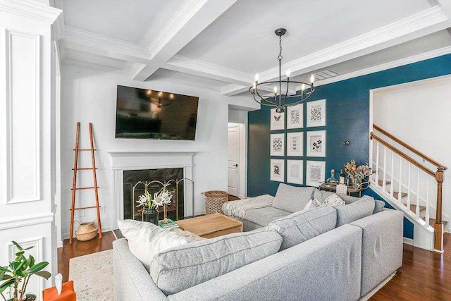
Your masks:
{"label": "dark fireplace opening and surround behind the white flowers", "polygon": [[[167,206],[168,219],[174,221],[178,219],[184,219],[185,212],[185,199],[184,199],[184,185],[186,185],[183,179],[183,168],[159,168],[159,169],[143,169],[134,171],[123,171],[124,179],[124,219],[135,219],[137,221],[142,220],[141,212],[142,207],[137,207],[137,200],[140,195],[144,194],[144,185],[138,184],[138,182],[151,183],[157,180],[161,183],[170,183],[168,190],[173,192],[172,202]],[[178,189],[175,182],[178,182]],[[136,185],[136,186],[135,186]],[[133,197],[133,187],[135,187],[135,199]],[[161,190],[162,185],[160,183],[149,184],[148,190],[152,194]],[[163,219],[163,207],[159,208],[159,219]]]}

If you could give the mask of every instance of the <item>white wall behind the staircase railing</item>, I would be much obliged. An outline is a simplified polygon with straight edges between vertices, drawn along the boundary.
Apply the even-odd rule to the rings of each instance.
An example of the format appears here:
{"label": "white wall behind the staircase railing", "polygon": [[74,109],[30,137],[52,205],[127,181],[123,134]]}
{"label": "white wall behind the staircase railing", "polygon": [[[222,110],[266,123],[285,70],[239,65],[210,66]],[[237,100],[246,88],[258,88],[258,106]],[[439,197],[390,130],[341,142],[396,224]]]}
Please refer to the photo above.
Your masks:
{"label": "white wall behind the staircase railing", "polygon": [[[450,76],[376,90],[373,92],[373,123],[451,168],[450,91]],[[436,171],[436,168],[432,170]],[[407,168],[404,166],[405,171]],[[412,185],[416,187],[416,177],[412,178]],[[435,180],[431,179],[430,185],[431,202],[435,207]],[[420,182],[420,190],[420,196],[425,197],[424,182]],[[451,215],[450,170],[445,171],[443,183],[443,213]],[[435,213],[431,214],[433,216]]]}

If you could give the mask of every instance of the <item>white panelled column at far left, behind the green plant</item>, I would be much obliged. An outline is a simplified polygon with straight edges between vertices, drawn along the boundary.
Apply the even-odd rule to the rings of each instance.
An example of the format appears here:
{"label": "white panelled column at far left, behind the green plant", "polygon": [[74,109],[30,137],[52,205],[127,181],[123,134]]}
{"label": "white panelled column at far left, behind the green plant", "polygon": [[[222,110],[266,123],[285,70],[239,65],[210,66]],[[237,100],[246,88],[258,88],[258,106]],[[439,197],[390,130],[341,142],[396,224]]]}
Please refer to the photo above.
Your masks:
{"label": "white panelled column at far left, behind the green plant", "polygon": [[[16,240],[33,246],[55,275],[55,59],[51,24],[61,11],[39,1],[0,2],[0,265],[13,260]],[[52,280],[30,278],[40,298]]]}

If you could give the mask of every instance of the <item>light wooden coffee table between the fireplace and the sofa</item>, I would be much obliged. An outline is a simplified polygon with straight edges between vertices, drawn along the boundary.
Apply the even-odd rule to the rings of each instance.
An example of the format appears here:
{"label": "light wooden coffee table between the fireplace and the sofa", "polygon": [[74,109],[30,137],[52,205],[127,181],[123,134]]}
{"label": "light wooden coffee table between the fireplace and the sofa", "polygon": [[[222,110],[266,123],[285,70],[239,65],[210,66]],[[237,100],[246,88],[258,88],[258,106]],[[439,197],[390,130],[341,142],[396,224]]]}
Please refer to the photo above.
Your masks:
{"label": "light wooden coffee table between the fireplace and the sofa", "polygon": [[242,222],[220,213],[177,221],[178,226],[202,238],[217,238],[221,235],[242,232]]}

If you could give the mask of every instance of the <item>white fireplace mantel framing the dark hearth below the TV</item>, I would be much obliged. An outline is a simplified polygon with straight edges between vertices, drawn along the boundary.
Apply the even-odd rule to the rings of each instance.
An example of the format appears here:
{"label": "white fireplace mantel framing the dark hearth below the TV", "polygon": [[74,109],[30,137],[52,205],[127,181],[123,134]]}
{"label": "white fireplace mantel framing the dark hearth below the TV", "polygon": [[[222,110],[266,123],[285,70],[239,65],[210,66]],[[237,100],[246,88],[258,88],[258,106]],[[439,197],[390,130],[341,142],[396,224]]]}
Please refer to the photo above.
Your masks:
{"label": "white fireplace mantel framing the dark hearth below the TV", "polygon": [[[192,179],[192,156],[194,152],[109,152],[113,199],[115,204],[115,228],[124,219],[123,171],[159,168],[183,168],[183,177]],[[185,216],[194,215],[194,187],[184,185]]]}

